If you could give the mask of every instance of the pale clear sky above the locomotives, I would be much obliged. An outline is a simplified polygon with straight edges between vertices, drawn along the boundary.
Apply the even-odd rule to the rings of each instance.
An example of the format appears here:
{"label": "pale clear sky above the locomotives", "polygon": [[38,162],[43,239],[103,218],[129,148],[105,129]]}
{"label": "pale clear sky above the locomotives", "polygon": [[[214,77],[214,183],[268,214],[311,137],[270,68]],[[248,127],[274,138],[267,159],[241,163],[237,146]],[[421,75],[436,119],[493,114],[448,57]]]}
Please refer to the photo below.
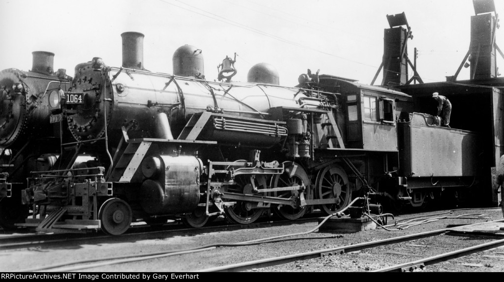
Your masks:
{"label": "pale clear sky above the locomotives", "polygon": [[[495,8],[504,15],[503,0]],[[54,69],[70,76],[93,57],[121,66],[120,34],[135,31],[145,35],[144,66],[152,72],[172,74],[173,53],[188,44],[203,50],[210,81],[236,53],[233,81],[266,62],[284,86],[297,85],[308,68],[370,84],[382,62],[386,16],[403,12],[422,80],[455,75],[469,49],[472,0],[0,0],[0,69],[31,69],[33,51],[55,53]],[[504,50],[501,29],[496,43]],[[458,79],[468,78],[463,68]]]}

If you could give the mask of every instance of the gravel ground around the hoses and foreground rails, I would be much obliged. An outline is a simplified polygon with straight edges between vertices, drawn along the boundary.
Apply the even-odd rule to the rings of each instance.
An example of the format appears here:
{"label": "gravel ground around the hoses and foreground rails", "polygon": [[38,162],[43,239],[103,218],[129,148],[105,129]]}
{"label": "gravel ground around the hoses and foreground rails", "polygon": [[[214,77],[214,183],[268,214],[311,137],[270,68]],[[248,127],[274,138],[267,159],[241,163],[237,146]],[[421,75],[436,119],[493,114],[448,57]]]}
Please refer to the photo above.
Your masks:
{"label": "gravel ground around the hoses and foreground rails", "polygon": [[[446,213],[439,215],[441,213]],[[150,260],[142,260],[113,265],[102,265],[93,268],[70,271],[86,272],[174,272],[198,271],[210,267],[222,266],[243,261],[252,261],[288,254],[330,249],[356,243],[369,242],[407,234],[439,230],[447,226],[481,223],[502,219],[501,210],[474,209],[425,212],[414,217],[440,218],[463,214],[483,214],[487,219],[439,219],[423,225],[413,226],[405,230],[386,231],[384,229],[366,230],[357,233],[338,233],[319,230],[304,236],[341,235],[333,239],[311,239],[265,243],[242,247],[220,247],[192,254],[168,256]],[[412,218],[412,215],[396,216],[394,221]],[[472,216],[475,217],[475,216]],[[389,224],[392,222],[389,219]],[[317,221],[299,222],[288,225],[266,224],[255,228],[226,227],[219,231],[201,229],[195,231],[157,232],[134,237],[116,237],[104,240],[89,240],[69,242],[68,244],[42,245],[19,250],[0,251],[0,271],[18,271],[36,266],[47,266],[77,259],[110,257],[125,254],[146,254],[152,252],[180,250],[204,246],[213,243],[234,243],[273,236],[307,232],[317,227]],[[393,227],[391,227],[393,228]],[[317,259],[296,261],[284,265],[252,269],[255,272],[326,272],[326,271],[369,271],[409,262],[420,258],[445,253],[455,249],[478,245],[504,237],[489,236],[453,236],[439,235],[396,245],[365,249],[354,253],[328,256]],[[66,270],[69,270],[68,268]],[[427,266],[422,271],[471,271],[489,272],[504,271],[504,248],[496,248],[465,257],[452,259],[436,265]]]}

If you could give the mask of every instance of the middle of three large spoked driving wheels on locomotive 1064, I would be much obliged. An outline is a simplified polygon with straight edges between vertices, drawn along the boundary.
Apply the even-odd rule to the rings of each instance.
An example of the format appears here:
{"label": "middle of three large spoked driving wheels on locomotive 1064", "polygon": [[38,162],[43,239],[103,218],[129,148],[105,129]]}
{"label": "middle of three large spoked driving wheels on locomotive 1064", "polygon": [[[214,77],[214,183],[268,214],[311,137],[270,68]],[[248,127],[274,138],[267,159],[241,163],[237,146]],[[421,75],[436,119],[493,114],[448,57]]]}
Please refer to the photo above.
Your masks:
{"label": "middle of three large spoked driving wheels on locomotive 1064", "polygon": [[[292,187],[292,186],[301,186],[301,185],[310,185],[310,179],[304,169],[297,165],[294,162],[284,162],[285,172],[281,175],[275,175],[271,182],[272,188],[281,188],[281,187]],[[308,193],[306,193],[306,189],[302,192],[304,199],[308,198]],[[299,191],[278,191],[274,192],[273,196],[281,197],[281,198],[290,198],[292,196],[299,198]],[[273,207],[273,212],[282,219],[286,220],[297,220],[304,216],[308,207],[298,206],[292,207],[290,205],[277,205]]]}

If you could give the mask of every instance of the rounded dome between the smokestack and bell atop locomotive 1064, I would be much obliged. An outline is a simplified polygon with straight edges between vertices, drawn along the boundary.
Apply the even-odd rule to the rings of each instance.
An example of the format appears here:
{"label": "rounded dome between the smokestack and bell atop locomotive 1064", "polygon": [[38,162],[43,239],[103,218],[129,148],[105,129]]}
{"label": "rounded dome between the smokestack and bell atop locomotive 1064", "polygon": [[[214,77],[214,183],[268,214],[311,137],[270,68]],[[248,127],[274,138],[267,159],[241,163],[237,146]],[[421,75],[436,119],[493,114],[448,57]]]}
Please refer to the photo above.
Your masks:
{"label": "rounded dome between the smokestack and bell atop locomotive 1064", "polygon": [[173,53],[173,74],[181,77],[205,78],[205,65],[201,49],[192,45],[179,47]]}

